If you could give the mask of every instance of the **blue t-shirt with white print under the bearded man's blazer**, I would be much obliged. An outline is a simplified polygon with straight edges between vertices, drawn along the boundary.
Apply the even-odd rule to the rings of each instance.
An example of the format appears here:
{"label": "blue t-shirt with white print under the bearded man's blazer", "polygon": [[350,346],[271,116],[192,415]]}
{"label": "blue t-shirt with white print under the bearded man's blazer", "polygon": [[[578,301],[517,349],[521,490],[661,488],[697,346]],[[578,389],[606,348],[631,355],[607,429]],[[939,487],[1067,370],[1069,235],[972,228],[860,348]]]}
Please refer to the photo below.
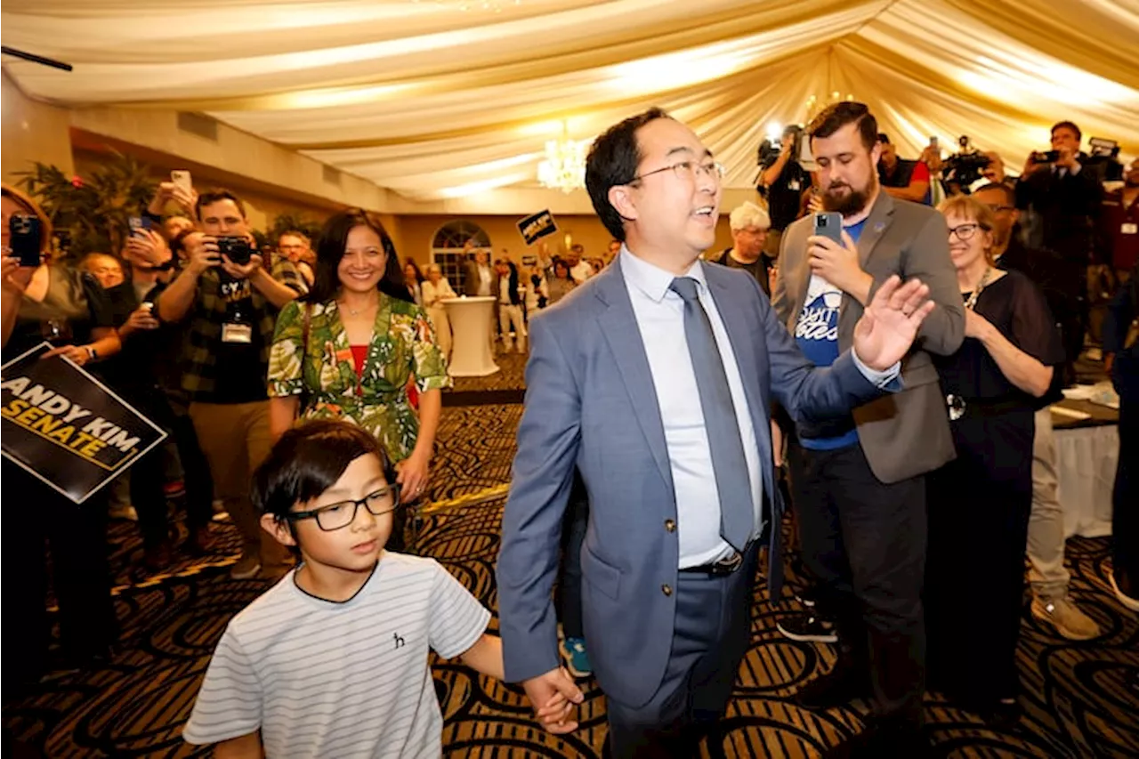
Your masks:
{"label": "blue t-shirt with white print under the bearded man's blazer", "polygon": [[[855,243],[862,235],[866,219],[844,227]],[[817,275],[811,275],[803,301],[803,311],[795,324],[795,342],[814,366],[830,366],[838,358],[838,307],[843,291]],[[811,450],[835,450],[858,442],[854,419],[846,415],[825,425],[798,427],[798,441]]]}

